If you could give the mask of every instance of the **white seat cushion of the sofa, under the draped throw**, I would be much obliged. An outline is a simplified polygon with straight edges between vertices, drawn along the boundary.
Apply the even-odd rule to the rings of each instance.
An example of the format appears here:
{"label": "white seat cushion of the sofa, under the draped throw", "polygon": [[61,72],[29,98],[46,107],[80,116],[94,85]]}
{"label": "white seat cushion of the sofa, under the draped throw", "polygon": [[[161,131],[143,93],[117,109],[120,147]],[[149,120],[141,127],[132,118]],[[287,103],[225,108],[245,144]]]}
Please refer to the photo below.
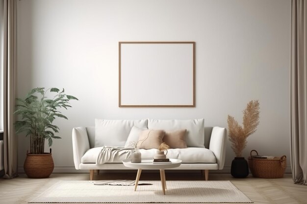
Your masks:
{"label": "white seat cushion of the sofa, under the draped throw", "polygon": [[[89,149],[81,158],[82,163],[96,163],[96,159],[101,152],[102,147]],[[142,158],[153,158],[156,149],[140,149]],[[128,154],[128,153],[127,153]],[[127,155],[123,154],[115,158],[113,163],[121,163],[126,159]],[[216,158],[213,152],[202,147],[188,147],[183,149],[169,149],[166,155],[167,158],[180,159],[182,163],[216,163]]]}

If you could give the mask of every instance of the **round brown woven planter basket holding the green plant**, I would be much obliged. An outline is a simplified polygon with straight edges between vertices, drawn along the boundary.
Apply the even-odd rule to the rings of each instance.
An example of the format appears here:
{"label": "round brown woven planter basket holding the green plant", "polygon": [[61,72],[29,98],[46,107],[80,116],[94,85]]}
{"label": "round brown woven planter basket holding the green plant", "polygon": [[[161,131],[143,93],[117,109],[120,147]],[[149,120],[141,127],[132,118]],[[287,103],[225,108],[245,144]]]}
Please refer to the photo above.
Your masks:
{"label": "round brown woven planter basket holding the green plant", "polygon": [[54,168],[54,163],[50,153],[29,154],[26,153],[24,169],[26,176],[33,179],[48,178]]}

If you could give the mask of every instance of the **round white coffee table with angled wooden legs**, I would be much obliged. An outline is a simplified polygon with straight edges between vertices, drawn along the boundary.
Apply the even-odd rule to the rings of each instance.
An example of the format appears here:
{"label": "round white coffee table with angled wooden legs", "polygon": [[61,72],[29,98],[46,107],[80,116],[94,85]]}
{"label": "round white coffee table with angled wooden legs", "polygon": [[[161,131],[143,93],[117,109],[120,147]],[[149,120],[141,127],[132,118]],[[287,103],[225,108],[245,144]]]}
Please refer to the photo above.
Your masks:
{"label": "round white coffee table with angled wooden legs", "polygon": [[171,169],[180,166],[181,160],[179,159],[170,159],[172,163],[159,163],[154,164],[153,158],[142,158],[141,163],[131,163],[131,159],[124,159],[123,164],[129,168],[138,169],[134,184],[134,191],[136,191],[137,184],[139,182],[142,169],[159,169],[160,170],[160,178],[162,184],[163,195],[165,195],[166,189],[166,181],[165,181],[165,172],[164,169]]}

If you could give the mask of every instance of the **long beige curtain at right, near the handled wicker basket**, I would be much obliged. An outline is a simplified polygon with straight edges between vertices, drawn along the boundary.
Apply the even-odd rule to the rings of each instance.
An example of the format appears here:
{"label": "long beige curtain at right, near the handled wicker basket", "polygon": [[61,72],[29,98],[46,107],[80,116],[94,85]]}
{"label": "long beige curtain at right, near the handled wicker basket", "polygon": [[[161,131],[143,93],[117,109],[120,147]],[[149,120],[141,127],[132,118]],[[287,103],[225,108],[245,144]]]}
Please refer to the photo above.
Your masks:
{"label": "long beige curtain at right, near the handled wicker basket", "polygon": [[291,168],[307,185],[307,2],[291,1]]}

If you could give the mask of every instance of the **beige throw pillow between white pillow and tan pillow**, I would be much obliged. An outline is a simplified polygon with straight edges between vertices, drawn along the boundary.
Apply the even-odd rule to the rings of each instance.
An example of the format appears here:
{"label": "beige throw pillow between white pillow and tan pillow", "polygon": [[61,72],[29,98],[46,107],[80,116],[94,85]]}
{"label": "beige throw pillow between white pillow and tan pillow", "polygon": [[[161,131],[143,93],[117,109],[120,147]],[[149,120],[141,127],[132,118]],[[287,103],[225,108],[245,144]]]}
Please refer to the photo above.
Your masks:
{"label": "beige throw pillow between white pillow and tan pillow", "polygon": [[137,148],[158,149],[164,135],[164,130],[144,130],[140,133]]}

